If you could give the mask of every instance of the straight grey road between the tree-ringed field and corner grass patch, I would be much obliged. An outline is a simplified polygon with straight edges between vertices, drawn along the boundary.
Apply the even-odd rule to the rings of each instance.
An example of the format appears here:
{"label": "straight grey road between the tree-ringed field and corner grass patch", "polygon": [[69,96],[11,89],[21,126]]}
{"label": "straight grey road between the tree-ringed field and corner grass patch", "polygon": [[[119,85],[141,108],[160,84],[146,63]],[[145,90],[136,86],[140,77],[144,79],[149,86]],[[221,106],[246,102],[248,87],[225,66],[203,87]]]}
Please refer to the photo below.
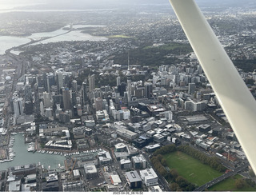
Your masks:
{"label": "straight grey road between the tree-ringed field and corner grass patch", "polygon": [[211,187],[212,185],[217,184],[220,181],[225,180],[228,177],[232,177],[235,174],[237,174],[238,172],[242,171],[243,169],[246,169],[246,167],[248,167],[248,165],[250,165],[249,163],[246,163],[244,165],[238,166],[238,168],[234,169],[233,171],[230,171],[229,173],[225,173],[220,177],[215,178],[212,181],[209,181],[208,183],[206,183],[205,185],[202,185],[200,187],[198,187],[197,189],[194,189],[194,192],[202,192],[203,190]]}

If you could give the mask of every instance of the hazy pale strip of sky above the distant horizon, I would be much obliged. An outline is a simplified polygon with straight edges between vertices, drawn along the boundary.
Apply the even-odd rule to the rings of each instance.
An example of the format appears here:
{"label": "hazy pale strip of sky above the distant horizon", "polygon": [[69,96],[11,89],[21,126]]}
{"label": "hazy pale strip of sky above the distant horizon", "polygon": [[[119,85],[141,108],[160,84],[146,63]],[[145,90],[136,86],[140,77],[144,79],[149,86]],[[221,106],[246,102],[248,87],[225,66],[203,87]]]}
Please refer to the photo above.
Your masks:
{"label": "hazy pale strip of sky above the distant horizon", "polygon": [[[195,0],[198,6],[248,6],[256,5],[255,0]],[[135,5],[170,5],[169,0],[0,0],[0,10],[13,9],[102,9]],[[36,5],[36,6],[35,6]]]}

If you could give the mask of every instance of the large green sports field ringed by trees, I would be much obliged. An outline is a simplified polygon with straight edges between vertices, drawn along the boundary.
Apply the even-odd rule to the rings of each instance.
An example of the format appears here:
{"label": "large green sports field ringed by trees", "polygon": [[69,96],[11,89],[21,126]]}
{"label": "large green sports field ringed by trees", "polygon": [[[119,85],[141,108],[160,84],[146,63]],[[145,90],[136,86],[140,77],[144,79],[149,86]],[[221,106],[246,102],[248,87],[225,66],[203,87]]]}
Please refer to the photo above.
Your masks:
{"label": "large green sports field ringed by trees", "polygon": [[166,154],[164,157],[170,169],[176,169],[179,175],[198,186],[222,175],[222,173],[202,164],[202,162],[186,155],[186,153],[178,151]]}

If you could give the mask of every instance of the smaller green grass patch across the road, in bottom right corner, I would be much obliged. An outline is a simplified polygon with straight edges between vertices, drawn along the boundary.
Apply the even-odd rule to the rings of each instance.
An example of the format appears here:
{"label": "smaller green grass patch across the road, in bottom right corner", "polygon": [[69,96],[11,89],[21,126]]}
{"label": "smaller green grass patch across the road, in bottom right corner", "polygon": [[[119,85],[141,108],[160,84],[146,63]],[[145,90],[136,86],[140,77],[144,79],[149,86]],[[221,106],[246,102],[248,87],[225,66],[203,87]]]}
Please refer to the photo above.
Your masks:
{"label": "smaller green grass patch across the road, in bottom right corner", "polygon": [[241,175],[235,175],[234,177],[229,177],[226,180],[210,187],[209,191],[232,191],[232,192],[256,192],[256,189],[250,185],[246,185],[242,189],[236,189],[235,180],[242,178]]}

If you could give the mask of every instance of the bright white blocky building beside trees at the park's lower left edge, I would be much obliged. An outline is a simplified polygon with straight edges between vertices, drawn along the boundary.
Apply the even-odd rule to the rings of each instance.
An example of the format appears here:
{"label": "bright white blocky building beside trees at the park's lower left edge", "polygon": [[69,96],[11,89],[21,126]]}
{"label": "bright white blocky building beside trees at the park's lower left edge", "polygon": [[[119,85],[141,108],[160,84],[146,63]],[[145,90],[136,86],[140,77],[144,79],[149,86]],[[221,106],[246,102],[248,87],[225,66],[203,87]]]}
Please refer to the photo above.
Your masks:
{"label": "bright white blocky building beside trees at the park's lower left edge", "polygon": [[150,185],[158,185],[158,175],[154,172],[154,169],[145,169],[145,170],[140,170],[139,174],[142,178],[142,182],[146,186]]}

